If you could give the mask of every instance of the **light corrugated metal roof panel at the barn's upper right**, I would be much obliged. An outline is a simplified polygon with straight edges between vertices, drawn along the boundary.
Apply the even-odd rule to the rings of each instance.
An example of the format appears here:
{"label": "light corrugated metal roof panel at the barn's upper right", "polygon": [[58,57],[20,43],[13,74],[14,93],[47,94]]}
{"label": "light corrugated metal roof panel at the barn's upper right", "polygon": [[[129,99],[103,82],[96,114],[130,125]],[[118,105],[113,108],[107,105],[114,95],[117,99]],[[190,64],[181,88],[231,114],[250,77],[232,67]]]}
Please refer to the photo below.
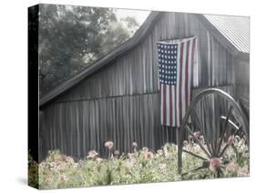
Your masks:
{"label": "light corrugated metal roof panel at the barn's upper right", "polygon": [[204,15],[239,51],[250,53],[250,17]]}

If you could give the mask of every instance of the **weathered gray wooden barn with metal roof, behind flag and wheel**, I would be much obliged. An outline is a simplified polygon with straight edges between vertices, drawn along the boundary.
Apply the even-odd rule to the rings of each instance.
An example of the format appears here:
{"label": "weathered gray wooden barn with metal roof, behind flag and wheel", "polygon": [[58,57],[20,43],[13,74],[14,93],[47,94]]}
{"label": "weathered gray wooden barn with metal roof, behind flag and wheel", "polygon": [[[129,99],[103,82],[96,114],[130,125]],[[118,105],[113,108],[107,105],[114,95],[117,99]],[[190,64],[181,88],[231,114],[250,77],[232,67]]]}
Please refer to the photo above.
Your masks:
{"label": "weathered gray wooden barn with metal roof, behind flag and wheel", "polygon": [[104,143],[129,152],[176,142],[177,128],[161,127],[157,42],[197,36],[199,65],[192,96],[220,87],[249,115],[247,17],[151,12],[127,42],[40,98],[39,160],[59,149],[85,157],[106,155]]}

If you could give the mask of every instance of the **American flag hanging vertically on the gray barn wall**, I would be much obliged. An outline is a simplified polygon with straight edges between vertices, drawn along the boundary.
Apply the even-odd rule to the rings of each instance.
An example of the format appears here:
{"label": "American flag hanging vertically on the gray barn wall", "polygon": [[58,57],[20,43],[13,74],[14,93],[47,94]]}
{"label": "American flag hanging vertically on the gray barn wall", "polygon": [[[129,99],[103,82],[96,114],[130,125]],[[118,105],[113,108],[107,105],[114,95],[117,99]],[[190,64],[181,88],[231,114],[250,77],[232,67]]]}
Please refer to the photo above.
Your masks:
{"label": "American flag hanging vertically on the gray barn wall", "polygon": [[197,38],[158,42],[161,125],[180,127],[190,103]]}

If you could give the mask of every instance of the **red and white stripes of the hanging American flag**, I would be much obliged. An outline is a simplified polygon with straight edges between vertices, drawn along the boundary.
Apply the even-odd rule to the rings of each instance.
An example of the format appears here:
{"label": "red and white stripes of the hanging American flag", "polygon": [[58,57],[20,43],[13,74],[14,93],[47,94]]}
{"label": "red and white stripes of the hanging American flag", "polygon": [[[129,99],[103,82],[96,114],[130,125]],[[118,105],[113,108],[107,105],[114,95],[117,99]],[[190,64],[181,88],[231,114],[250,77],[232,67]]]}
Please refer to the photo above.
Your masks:
{"label": "red and white stripes of the hanging American flag", "polygon": [[160,84],[161,125],[180,127],[191,98],[192,67],[197,60],[196,37],[174,40],[178,44],[177,84],[169,86]]}

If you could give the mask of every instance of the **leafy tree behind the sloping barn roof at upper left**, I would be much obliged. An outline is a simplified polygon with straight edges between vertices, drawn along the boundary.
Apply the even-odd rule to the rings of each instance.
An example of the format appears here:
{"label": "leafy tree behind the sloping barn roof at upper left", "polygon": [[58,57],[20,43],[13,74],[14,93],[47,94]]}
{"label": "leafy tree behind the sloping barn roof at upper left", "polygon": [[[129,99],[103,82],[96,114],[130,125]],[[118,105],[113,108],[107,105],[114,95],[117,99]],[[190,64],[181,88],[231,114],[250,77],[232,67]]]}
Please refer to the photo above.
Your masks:
{"label": "leafy tree behind the sloping barn roof at upper left", "polygon": [[77,75],[132,36],[138,27],[118,22],[115,10],[70,5],[40,5],[40,95]]}

